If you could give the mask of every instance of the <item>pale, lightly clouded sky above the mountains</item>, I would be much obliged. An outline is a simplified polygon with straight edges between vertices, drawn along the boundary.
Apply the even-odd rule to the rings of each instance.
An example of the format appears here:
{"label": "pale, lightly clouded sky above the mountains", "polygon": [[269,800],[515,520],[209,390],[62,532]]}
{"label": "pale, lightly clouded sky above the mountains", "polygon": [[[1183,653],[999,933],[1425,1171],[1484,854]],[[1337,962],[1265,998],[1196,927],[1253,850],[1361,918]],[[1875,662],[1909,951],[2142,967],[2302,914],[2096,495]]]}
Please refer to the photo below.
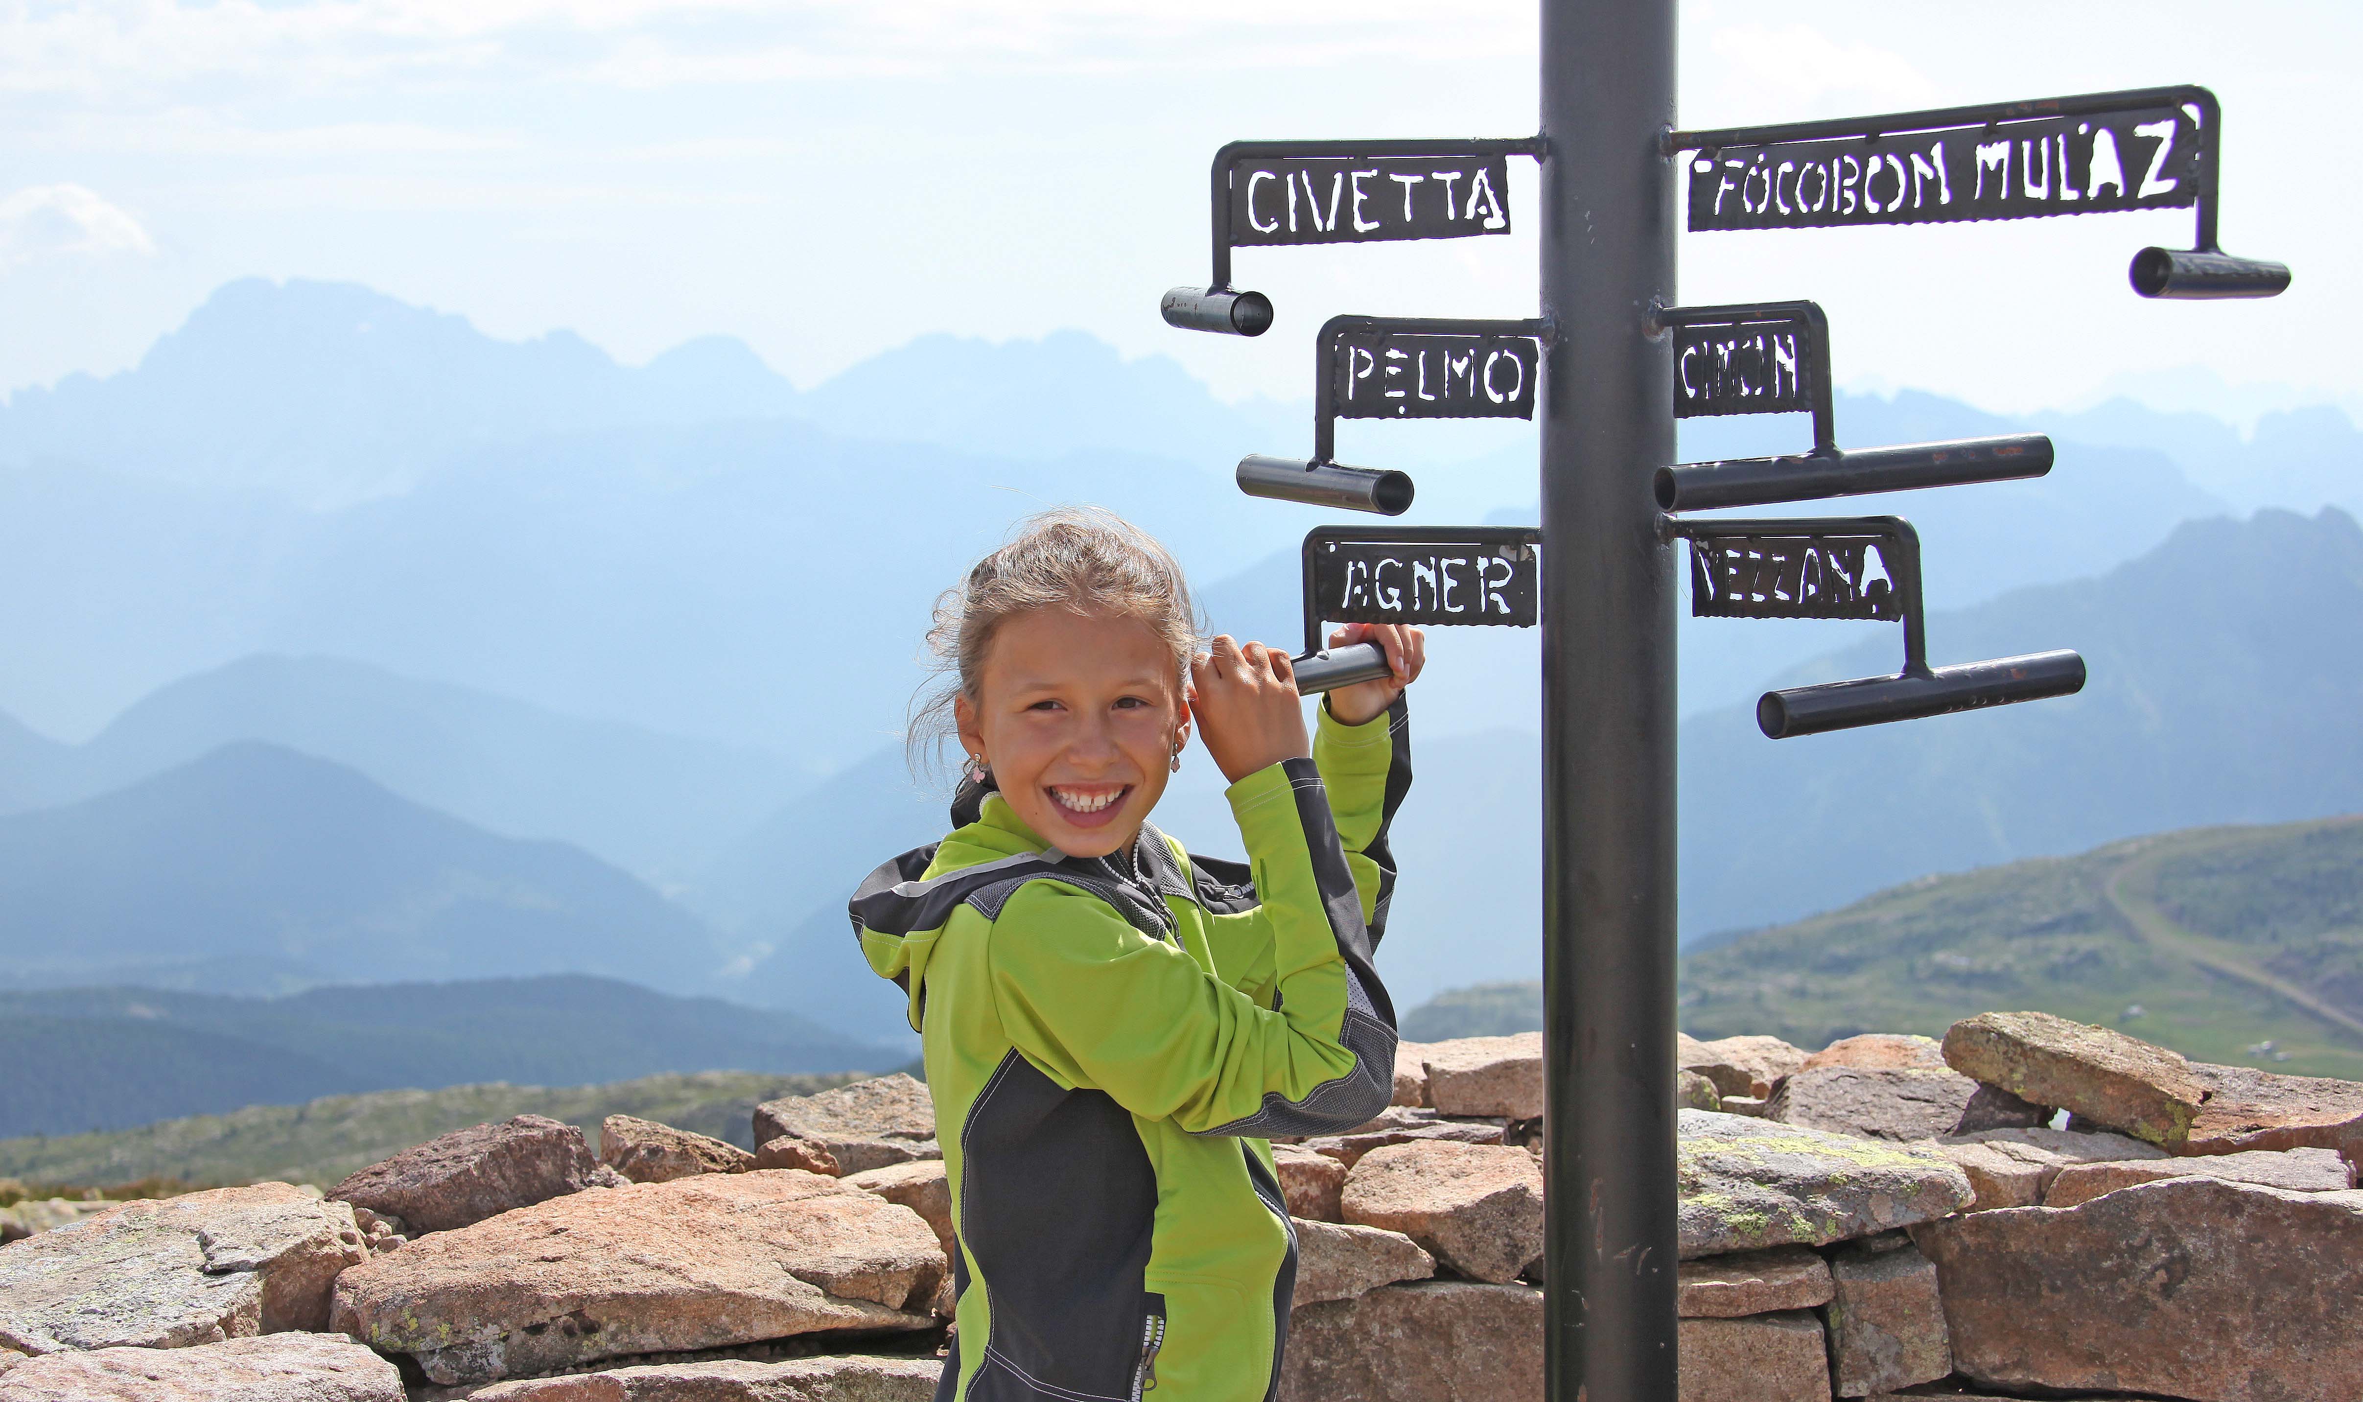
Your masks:
{"label": "pale, lightly clouded sky above the mountains", "polygon": [[[265,274],[626,362],[730,333],[799,385],[1078,326],[1302,400],[1335,312],[1531,314],[1531,163],[1510,236],[1241,253],[1278,305],[1248,343],[1156,312],[1205,281],[1207,158],[1526,135],[1534,31],[1491,0],[0,0],[0,388],[123,369]],[[2363,5],[1687,0],[1680,43],[1685,125],[2207,83],[2224,246],[2297,270],[2266,303],[2136,298],[2188,210],[1685,234],[1685,303],[1815,298],[1841,383],[1990,409],[2363,416],[2363,199],[2328,149]]]}

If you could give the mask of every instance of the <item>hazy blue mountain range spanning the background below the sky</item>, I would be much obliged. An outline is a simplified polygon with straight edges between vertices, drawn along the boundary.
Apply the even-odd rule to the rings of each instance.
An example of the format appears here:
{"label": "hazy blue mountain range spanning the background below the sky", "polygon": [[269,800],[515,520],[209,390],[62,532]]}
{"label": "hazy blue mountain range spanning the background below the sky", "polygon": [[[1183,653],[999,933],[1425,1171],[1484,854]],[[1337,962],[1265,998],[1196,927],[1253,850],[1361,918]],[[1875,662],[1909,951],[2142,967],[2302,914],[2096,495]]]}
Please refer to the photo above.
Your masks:
{"label": "hazy blue mountain range spanning the background below the sky", "polygon": [[[366,288],[232,284],[137,369],[0,411],[0,962],[213,993],[598,972],[907,1045],[841,901],[943,825],[896,735],[936,591],[1014,515],[1087,499],[1160,532],[1215,627],[1293,641],[1323,513],[1224,478],[1302,416],[1070,333],[929,338],[796,390],[721,338],[619,366]],[[1895,629],[1685,622],[1687,936],[2351,806],[2356,525],[2224,513],[2342,487],[2354,426],[2183,418],[1838,400],[1848,444],[2058,435],[2046,480],[1848,508],[1919,520],[1940,662],[2075,645],[2094,681],[1775,745],[1756,690],[1888,671]],[[1508,433],[1430,456],[1420,520],[1531,518]],[[1786,452],[1803,426],[1682,442]],[[1531,976],[1536,636],[1439,634],[1413,712],[1387,972],[1406,1000]],[[1158,820],[1224,851],[1219,775],[1184,764]]]}

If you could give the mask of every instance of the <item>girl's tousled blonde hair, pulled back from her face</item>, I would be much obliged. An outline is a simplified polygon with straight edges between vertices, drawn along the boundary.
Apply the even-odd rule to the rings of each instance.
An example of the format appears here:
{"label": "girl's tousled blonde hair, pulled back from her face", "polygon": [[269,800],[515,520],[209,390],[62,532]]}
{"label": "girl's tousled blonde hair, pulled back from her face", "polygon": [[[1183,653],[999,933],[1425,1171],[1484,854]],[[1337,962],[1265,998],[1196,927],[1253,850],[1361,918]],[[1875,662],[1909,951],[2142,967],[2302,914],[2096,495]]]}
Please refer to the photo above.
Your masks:
{"label": "girl's tousled blonde hair, pulled back from her face", "polygon": [[952,705],[962,695],[976,705],[1002,622],[1035,608],[1132,615],[1172,648],[1174,683],[1189,683],[1200,629],[1182,565],[1113,511],[1056,506],[1021,520],[957,589],[936,596],[936,622],[926,629],[933,679],[910,712],[912,768],[940,766],[943,742],[957,733]]}

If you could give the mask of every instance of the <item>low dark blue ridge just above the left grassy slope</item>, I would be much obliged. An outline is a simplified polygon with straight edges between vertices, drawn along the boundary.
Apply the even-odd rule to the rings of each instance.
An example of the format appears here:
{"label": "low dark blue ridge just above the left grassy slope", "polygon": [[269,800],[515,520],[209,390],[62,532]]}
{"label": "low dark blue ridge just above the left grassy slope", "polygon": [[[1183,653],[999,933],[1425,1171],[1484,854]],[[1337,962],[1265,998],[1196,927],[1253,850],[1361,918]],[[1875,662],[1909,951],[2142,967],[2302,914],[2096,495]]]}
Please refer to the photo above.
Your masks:
{"label": "low dark blue ridge just above the left grassy slope", "polygon": [[0,993],[0,1137],[321,1095],[591,1085],[669,1071],[877,1071],[905,1057],[787,1012],[560,974],[232,998]]}

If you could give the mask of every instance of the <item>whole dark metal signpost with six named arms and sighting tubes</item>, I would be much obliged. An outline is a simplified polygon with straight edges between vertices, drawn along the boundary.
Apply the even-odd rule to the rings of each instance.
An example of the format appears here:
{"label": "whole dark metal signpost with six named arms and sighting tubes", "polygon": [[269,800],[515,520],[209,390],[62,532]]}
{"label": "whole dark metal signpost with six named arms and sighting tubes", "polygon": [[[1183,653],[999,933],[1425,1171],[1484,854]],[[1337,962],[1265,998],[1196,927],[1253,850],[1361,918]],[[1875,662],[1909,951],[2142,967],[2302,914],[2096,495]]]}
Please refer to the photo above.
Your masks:
{"label": "whole dark metal signpost with six named arms and sighting tubes", "polygon": [[[2191,208],[2193,248],[2143,248],[2146,298],[2268,298],[2278,262],[2216,244],[2224,116],[2150,87],[1853,121],[1675,128],[1673,0],[1543,0],[1541,135],[1233,142],[1212,165],[1215,277],[1174,326],[1259,336],[1271,300],[1231,251],[1510,229],[1508,158],[1541,163],[1541,314],[1335,317],[1314,340],[1311,459],[1248,456],[1252,496],[1399,515],[1406,473],[1335,461],[1337,418],[1531,418],[1543,527],[1321,527],[1304,537],[1300,688],[1385,674],[1321,624],[1543,627],[1545,1390],[1675,1400],[1675,541],[1701,617],[1905,627],[1890,676],[1772,690],[1768,738],[2070,695],[2075,653],[1928,664],[1919,534],[1879,518],[1697,518],[2051,470],[2042,435],[1838,447],[1812,303],[1680,307],[1690,229],[2023,220]],[[1810,414],[1791,456],[1675,463],[1678,418]],[[1545,567],[1548,563],[1548,567]]]}

